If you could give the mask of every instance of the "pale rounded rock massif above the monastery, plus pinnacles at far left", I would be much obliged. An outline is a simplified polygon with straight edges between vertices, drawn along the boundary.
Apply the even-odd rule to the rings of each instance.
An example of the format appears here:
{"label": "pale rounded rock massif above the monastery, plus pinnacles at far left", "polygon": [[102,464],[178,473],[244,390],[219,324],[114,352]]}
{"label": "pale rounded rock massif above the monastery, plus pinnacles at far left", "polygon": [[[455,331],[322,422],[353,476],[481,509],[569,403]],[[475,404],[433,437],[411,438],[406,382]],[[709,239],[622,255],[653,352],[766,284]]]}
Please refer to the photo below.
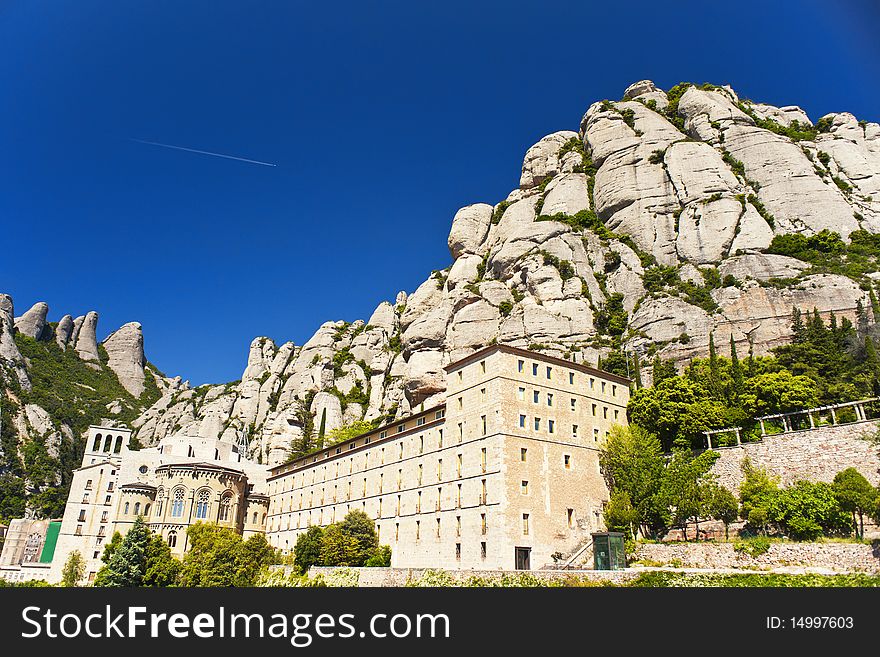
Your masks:
{"label": "pale rounded rock massif above the monastery, plus pinnacles at far left", "polygon": [[[529,148],[507,198],[459,210],[452,264],[414,292],[366,321],[326,322],[303,345],[256,338],[240,381],[154,377],[163,393],[133,420],[135,435],[246,436],[255,459],[279,462],[320,427],[440,402],[444,365],[494,341],[624,374],[638,360],[703,356],[713,332],[765,353],[788,340],[793,307],[853,319],[880,310],[877,254],[860,248],[876,233],[877,123],[845,112],[814,123],[729,86],[637,82],[590,106],[578,130]],[[45,314],[35,306],[15,329],[42,335]],[[0,357],[23,385],[7,316]],[[95,320],[52,330],[137,394],[150,379],[139,327],[105,340],[104,362]]]}

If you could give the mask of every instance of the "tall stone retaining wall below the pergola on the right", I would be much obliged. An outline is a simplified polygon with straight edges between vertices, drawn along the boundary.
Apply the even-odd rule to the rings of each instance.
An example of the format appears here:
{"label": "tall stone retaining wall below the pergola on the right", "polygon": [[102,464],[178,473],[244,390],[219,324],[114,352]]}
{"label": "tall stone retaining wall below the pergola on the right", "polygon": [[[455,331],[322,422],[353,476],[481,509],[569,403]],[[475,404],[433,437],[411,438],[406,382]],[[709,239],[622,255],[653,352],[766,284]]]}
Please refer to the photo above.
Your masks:
{"label": "tall stone retaining wall below the pergola on the right", "polygon": [[783,485],[799,479],[831,481],[841,470],[853,467],[876,486],[880,484],[880,448],[863,439],[876,429],[873,421],[854,422],[776,434],[739,447],[716,448],[721,458],[713,472],[720,484],[736,492],[742,481],[740,465],[748,456],[755,465],[778,475]]}

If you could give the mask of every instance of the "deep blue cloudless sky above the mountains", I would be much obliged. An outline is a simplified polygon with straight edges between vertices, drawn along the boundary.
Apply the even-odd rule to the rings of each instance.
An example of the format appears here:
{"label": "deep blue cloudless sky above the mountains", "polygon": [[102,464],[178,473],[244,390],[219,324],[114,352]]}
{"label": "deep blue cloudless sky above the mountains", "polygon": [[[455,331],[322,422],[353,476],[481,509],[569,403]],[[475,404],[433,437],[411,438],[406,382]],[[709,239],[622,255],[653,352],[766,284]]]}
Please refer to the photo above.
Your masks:
{"label": "deep blue cloudless sky above the mountains", "polygon": [[872,5],[0,0],[0,291],[237,379],[447,266],[459,207],[635,80],[878,120]]}

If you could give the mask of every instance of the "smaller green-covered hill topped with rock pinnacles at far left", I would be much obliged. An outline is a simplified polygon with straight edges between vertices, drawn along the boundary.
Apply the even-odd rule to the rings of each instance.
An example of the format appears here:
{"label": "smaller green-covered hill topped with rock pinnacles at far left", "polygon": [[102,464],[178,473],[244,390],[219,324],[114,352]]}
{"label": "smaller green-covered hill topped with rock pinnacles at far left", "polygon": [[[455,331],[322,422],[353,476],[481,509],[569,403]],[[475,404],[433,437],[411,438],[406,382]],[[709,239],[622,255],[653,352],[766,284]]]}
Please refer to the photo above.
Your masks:
{"label": "smaller green-covered hill topped with rock pinnacles at far left", "polygon": [[130,425],[185,385],[147,363],[140,324],[98,343],[98,313],[48,313],[41,302],[16,317],[0,294],[0,518],[58,516],[88,426]]}

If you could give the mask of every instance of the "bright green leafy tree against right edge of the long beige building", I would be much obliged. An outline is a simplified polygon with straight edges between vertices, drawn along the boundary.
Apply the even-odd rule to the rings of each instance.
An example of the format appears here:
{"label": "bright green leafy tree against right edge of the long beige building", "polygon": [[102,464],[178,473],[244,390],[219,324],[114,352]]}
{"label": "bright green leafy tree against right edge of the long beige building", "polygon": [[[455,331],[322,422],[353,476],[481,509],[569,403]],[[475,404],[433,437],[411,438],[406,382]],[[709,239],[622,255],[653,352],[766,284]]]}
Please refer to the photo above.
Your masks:
{"label": "bright green leafy tree against right edge of the long beige building", "polygon": [[[599,464],[612,492],[611,510],[617,514],[610,520],[606,517],[606,523],[635,525],[631,529],[634,537],[639,532],[646,536],[660,533],[668,517],[659,498],[664,461],[656,436],[636,425],[615,425],[602,444]],[[634,518],[628,507],[634,510]]]}

